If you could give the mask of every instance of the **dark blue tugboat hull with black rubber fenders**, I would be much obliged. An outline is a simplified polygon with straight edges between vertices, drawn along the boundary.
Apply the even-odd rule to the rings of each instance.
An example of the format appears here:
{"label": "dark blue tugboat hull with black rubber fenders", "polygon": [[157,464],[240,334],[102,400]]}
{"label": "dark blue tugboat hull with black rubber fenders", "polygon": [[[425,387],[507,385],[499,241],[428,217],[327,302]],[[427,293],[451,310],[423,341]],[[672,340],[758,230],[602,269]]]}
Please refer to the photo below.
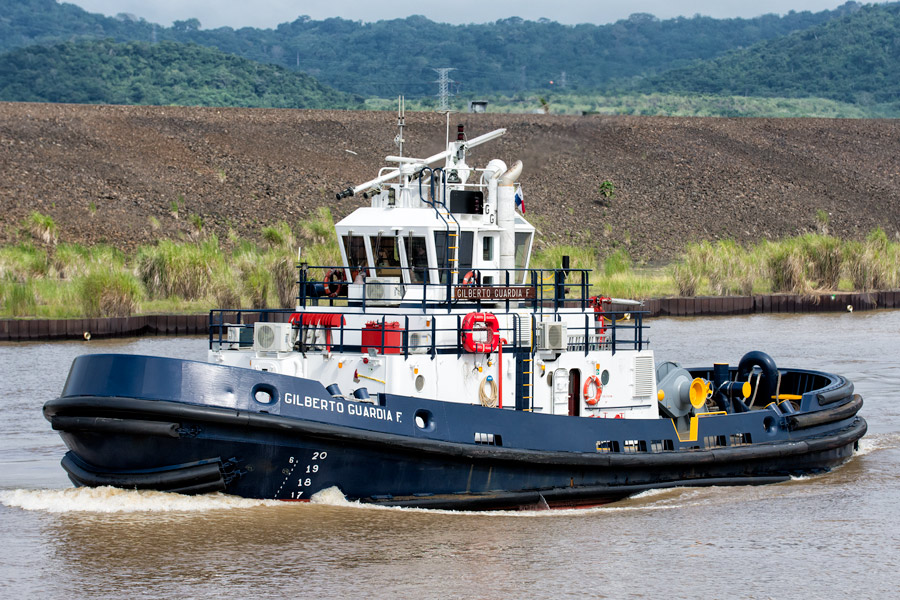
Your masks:
{"label": "dark blue tugboat hull with black rubber fenders", "polygon": [[[260,404],[255,392],[271,393]],[[844,397],[839,397],[846,392]],[[862,402],[833,386],[807,414],[586,419],[379,395],[332,398],[317,381],[191,361],[81,357],[45,416],[77,485],[349,499],[434,508],[584,506],[683,485],[758,484],[847,460]]]}

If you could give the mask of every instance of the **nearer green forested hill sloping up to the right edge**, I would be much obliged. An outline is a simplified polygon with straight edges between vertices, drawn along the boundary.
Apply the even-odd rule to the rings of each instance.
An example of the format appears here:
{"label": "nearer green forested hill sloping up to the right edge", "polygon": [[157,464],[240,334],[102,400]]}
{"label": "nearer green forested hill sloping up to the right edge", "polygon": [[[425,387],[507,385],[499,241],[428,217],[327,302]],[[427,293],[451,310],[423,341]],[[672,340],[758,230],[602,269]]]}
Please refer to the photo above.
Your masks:
{"label": "nearer green forested hill sloping up to the right edge", "polygon": [[853,14],[651,77],[645,91],[900,102],[900,4]]}

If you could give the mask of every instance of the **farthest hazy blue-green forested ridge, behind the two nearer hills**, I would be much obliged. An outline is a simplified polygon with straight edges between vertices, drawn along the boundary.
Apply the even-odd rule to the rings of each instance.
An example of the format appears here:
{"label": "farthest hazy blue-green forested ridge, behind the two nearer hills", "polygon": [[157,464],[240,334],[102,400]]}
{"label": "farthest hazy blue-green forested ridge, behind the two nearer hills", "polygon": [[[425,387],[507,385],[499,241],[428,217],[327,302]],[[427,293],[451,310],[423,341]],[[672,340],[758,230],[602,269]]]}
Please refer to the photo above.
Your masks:
{"label": "farthest hazy blue-green forested ridge, behind the two nearer hills", "polygon": [[275,29],[206,30],[197,19],[161,27],[130,15],[89,14],[54,0],[0,0],[0,50],[78,37],[193,42],[303,71],[363,96],[433,95],[431,69],[442,66],[456,69],[454,91],[460,92],[597,90],[804,30],[859,6],[848,2],[833,11],[754,19],[659,20],[638,13],[609,25],[576,26],[515,16],[470,25],[420,16],[376,23],[301,16]]}

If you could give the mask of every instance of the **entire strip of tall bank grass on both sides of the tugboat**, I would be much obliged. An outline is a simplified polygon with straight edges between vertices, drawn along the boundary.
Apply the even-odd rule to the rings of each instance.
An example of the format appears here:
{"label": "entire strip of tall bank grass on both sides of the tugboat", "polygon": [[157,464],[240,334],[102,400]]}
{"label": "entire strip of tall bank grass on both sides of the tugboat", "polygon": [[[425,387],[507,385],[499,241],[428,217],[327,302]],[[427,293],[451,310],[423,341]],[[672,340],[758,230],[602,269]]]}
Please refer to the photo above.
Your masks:
{"label": "entire strip of tall bank grass on both sides of the tugboat", "polygon": [[[822,224],[823,228],[826,225]],[[263,227],[257,241],[229,234],[160,240],[125,254],[106,245],[57,244],[53,220],[21,224],[20,243],[0,248],[0,316],[106,317],[204,312],[214,307],[287,307],[296,296],[296,248],[309,264],[338,264],[327,208],[291,227]],[[624,250],[545,246],[532,266],[593,269],[592,290],[620,298],[872,291],[900,287],[900,243],[881,229],[865,241],[806,234],[741,246],[733,241],[686,247],[666,267],[635,264]]]}

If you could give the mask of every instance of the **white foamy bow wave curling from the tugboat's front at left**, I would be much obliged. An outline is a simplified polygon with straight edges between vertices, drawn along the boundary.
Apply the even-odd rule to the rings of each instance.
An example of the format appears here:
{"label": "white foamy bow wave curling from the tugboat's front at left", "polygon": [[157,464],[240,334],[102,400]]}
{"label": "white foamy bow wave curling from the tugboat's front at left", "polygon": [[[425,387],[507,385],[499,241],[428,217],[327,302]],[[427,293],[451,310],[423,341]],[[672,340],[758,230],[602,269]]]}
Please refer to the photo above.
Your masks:
{"label": "white foamy bow wave curling from the tugboat's front at left", "polygon": [[277,500],[252,500],[226,494],[184,496],[149,490],[114,487],[63,490],[2,490],[0,503],[24,510],[50,513],[203,512],[255,506],[278,506]]}

